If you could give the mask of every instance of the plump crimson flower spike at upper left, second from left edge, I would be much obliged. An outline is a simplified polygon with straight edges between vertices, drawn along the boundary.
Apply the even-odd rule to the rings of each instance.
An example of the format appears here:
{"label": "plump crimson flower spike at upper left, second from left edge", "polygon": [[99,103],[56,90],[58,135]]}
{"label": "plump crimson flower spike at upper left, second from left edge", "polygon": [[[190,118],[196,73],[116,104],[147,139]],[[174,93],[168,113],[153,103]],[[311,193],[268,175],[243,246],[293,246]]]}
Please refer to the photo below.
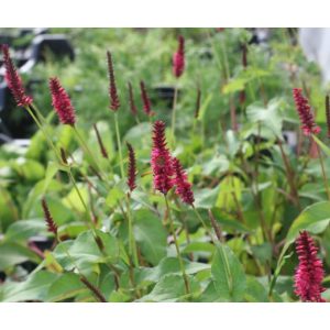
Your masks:
{"label": "plump crimson flower spike at upper left, second from left edge", "polygon": [[74,127],[76,123],[75,109],[66,90],[62,87],[58,78],[50,79],[52,105],[63,124]]}

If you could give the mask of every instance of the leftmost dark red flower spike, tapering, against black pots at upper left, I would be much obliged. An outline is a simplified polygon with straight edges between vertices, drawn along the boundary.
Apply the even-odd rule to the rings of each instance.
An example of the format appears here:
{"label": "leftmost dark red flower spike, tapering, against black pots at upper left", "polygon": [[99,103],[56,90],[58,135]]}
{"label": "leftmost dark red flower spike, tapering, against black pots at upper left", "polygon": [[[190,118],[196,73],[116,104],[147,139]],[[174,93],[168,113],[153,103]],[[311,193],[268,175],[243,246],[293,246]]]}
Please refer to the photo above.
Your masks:
{"label": "leftmost dark red flower spike, tapering, against black pots at upper left", "polygon": [[19,107],[29,107],[33,102],[33,99],[32,97],[25,94],[22,78],[19,75],[10,57],[9,47],[8,45],[2,45],[1,48],[3,53],[3,63],[6,68],[4,79],[8,84],[8,87],[11,90],[14,100]]}

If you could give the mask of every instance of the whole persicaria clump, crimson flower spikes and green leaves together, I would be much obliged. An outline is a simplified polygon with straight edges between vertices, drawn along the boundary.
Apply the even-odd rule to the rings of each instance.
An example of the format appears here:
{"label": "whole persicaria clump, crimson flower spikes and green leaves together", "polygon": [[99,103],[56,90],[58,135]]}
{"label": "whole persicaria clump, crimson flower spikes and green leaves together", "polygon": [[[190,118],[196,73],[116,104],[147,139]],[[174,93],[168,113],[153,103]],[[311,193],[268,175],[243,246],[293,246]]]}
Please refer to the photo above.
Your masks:
{"label": "whole persicaria clump, crimson flower spikes and green leaves together", "polygon": [[46,103],[1,45],[36,132],[0,148],[0,300],[329,300],[329,96],[290,43],[268,65],[243,29],[180,32],[96,45]]}

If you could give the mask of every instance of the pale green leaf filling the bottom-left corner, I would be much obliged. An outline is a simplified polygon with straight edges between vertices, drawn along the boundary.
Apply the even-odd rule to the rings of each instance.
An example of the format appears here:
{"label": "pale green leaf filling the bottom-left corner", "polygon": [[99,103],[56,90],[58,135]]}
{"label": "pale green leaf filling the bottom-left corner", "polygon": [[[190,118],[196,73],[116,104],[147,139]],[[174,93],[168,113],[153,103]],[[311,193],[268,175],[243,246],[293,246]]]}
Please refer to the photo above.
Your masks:
{"label": "pale green leaf filling the bottom-left corner", "polygon": [[25,282],[6,283],[2,287],[3,302],[19,302],[26,300],[45,301],[47,292],[53,282],[57,278],[54,273],[41,271],[32,274]]}

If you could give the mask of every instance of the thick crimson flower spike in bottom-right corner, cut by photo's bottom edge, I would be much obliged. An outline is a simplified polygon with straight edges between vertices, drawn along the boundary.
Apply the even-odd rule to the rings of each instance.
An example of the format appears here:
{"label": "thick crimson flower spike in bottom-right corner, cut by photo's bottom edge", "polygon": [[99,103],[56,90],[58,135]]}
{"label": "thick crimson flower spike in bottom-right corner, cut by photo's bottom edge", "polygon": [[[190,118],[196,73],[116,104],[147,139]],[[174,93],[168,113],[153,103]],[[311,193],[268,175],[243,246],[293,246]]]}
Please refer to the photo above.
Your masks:
{"label": "thick crimson flower spike in bottom-right corner, cut by photo's bottom edge", "polygon": [[317,257],[318,249],[307,231],[300,232],[296,240],[299,265],[295,275],[295,294],[301,301],[324,302],[321,293],[324,271],[322,262]]}

